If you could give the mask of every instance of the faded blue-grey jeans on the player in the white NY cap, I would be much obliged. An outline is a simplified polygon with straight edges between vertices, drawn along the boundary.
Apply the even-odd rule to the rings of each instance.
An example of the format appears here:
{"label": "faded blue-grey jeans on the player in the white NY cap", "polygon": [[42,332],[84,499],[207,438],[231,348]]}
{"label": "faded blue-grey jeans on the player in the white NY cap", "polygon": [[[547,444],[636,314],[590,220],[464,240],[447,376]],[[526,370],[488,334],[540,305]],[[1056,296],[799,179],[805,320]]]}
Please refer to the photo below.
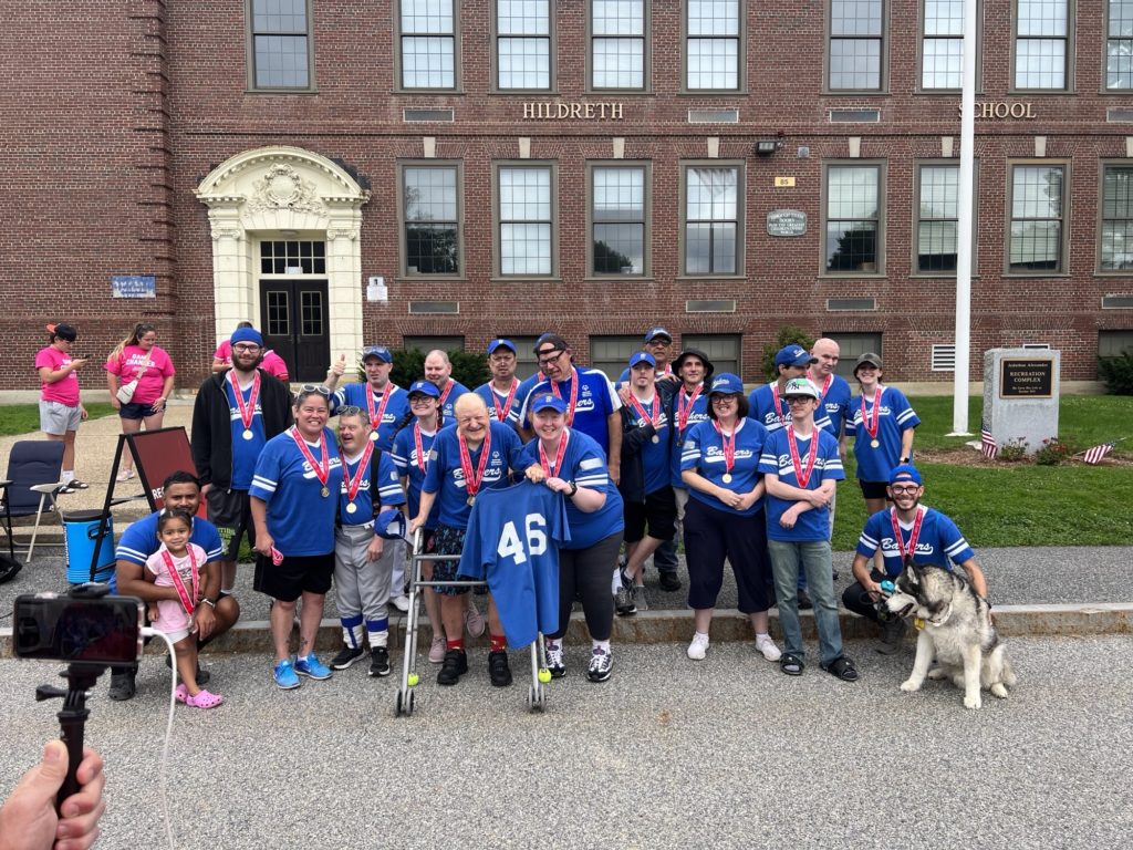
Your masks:
{"label": "faded blue-grey jeans on the player in the white NY cap", "polygon": [[842,629],[838,604],[834,597],[833,556],[829,541],[767,541],[778,597],[780,626],[783,628],[783,652],[803,657],[802,627],[799,624],[799,569],[807,573],[810,600],[815,603],[818,627],[818,649],[823,664],[842,655]]}

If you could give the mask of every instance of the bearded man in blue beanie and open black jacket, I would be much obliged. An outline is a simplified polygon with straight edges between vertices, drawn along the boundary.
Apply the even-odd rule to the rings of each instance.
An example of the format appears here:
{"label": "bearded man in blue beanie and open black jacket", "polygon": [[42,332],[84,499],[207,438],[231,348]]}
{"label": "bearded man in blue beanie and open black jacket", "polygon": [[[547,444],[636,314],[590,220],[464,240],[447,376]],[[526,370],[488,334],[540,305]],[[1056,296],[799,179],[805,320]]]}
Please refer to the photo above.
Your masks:
{"label": "bearded man in blue beanie and open black jacket", "polygon": [[[193,407],[193,462],[208,520],[224,542],[221,594],[236,584],[236,555],[253,535],[248,488],[264,444],[291,425],[291,392],[259,368],[264,340],[255,328],[232,334],[232,368],[205,379]],[[266,380],[270,379],[270,380]]]}

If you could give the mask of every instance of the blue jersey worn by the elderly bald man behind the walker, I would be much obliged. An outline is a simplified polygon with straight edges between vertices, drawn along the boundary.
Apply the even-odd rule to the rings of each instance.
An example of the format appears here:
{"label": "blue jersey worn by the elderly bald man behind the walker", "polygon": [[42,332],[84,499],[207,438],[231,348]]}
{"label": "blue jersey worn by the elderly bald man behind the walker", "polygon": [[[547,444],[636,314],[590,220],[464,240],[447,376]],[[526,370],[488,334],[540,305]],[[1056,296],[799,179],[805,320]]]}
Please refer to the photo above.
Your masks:
{"label": "blue jersey worn by the elderly bald man behind the walker", "polygon": [[[491,454],[484,467],[479,493],[492,487],[506,487],[508,470],[522,468],[516,465],[523,448],[516,430],[500,422],[488,423],[488,428],[492,434]],[[485,443],[468,452],[474,474],[479,468]],[[460,441],[457,428],[442,428],[436,435],[433,449],[428,453],[428,469],[425,473],[421,492],[440,494],[436,499],[436,503],[440,504],[437,519],[442,525],[453,528],[465,528],[468,525],[468,516],[472,508],[468,504],[465,471],[460,466]]]}

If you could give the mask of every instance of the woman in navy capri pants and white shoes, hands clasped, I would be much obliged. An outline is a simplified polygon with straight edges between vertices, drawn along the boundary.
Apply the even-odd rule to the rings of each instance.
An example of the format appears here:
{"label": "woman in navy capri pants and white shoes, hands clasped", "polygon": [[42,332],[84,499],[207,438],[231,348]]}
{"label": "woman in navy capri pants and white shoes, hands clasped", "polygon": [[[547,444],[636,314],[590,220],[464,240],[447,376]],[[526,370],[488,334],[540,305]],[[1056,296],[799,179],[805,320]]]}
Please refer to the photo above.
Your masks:
{"label": "woman in navy capri pants and white shoes, hands clasped", "polygon": [[689,488],[684,510],[684,552],[689,564],[689,607],[695,632],[688,656],[708,651],[708,629],[724,584],[724,560],[732,564],[739,609],[756,631],[756,649],[778,661],[768,632],[767,527],[759,454],[767,431],[748,418],[743,382],[729,372],[713,379],[708,420],[693,425],[681,450],[681,478]]}

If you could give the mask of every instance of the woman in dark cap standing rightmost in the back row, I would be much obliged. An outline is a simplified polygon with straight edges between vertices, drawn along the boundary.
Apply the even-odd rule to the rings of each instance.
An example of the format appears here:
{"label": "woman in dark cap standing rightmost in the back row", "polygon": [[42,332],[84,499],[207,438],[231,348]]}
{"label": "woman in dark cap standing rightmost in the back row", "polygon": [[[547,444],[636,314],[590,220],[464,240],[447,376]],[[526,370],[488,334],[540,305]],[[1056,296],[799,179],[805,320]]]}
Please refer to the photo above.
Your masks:
{"label": "woman in dark cap standing rightmost in the back row", "polygon": [[[866,498],[866,516],[885,510],[889,473],[913,457],[913,436],[920,418],[901,390],[881,383],[881,358],[871,352],[858,358],[853,375],[860,392],[850,401],[846,436],[853,440],[858,484]],[[880,560],[877,562],[880,568]]]}

